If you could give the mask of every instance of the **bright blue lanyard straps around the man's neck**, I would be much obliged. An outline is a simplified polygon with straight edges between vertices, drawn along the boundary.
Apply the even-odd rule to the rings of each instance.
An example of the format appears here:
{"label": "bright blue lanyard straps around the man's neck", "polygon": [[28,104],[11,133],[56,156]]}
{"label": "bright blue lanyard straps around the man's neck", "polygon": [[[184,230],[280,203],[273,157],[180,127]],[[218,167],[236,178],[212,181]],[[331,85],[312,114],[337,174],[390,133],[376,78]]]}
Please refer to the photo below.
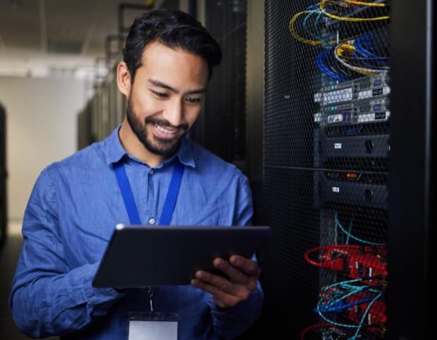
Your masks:
{"label": "bright blue lanyard straps around the man's neck", "polygon": [[[117,162],[114,164],[114,170],[116,171],[118,186],[120,187],[123,201],[125,202],[126,210],[130,224],[141,224],[140,215],[138,214],[137,205],[135,204],[135,198],[133,197],[132,188],[130,188],[129,178],[125,171],[123,162]],[[168,188],[166,201],[164,202],[164,208],[162,210],[161,219],[159,225],[170,225],[173,211],[175,210],[176,200],[178,199],[180,182],[182,181],[184,166],[178,159],[176,159],[175,169],[173,170],[173,176],[171,176],[170,187]]]}

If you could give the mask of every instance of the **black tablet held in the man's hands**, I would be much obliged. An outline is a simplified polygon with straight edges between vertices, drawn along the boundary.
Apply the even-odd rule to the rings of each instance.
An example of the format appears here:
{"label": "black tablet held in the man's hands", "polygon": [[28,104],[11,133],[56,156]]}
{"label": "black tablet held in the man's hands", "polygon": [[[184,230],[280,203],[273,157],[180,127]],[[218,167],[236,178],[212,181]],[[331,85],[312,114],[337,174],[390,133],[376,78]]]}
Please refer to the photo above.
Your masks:
{"label": "black tablet held in the man's hands", "polygon": [[127,226],[118,224],[92,281],[97,288],[190,284],[199,269],[226,276],[212,262],[252,257],[269,226]]}

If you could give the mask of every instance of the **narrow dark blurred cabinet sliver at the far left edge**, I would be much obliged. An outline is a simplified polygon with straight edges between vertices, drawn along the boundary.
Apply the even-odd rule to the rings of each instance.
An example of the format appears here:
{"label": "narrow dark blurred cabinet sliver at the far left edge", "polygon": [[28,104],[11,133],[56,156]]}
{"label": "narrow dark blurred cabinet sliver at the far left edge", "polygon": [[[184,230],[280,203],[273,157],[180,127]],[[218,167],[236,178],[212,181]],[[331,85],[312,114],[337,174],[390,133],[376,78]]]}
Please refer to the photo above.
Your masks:
{"label": "narrow dark blurred cabinet sliver at the far left edge", "polygon": [[6,238],[8,222],[6,176],[6,110],[0,104],[0,246]]}

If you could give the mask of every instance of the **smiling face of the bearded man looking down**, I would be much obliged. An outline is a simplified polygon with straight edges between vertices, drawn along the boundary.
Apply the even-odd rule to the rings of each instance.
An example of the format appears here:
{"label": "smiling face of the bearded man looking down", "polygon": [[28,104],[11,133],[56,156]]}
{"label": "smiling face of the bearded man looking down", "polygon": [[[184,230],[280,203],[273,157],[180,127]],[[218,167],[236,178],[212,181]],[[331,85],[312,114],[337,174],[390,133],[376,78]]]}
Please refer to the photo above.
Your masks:
{"label": "smiling face of the bearded man looking down", "polygon": [[147,45],[128,95],[128,123],[144,147],[169,157],[195,123],[208,83],[202,57],[159,42]]}

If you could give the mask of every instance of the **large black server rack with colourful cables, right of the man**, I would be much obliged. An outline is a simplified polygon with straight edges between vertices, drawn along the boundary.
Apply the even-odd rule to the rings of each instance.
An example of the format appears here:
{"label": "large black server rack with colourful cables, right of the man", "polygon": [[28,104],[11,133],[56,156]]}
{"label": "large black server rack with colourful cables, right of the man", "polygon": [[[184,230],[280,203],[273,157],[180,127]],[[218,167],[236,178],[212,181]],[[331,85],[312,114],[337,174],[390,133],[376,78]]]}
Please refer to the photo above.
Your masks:
{"label": "large black server rack with colourful cables, right of the man", "polygon": [[426,339],[433,13],[266,1],[260,222],[273,237],[253,339]]}

